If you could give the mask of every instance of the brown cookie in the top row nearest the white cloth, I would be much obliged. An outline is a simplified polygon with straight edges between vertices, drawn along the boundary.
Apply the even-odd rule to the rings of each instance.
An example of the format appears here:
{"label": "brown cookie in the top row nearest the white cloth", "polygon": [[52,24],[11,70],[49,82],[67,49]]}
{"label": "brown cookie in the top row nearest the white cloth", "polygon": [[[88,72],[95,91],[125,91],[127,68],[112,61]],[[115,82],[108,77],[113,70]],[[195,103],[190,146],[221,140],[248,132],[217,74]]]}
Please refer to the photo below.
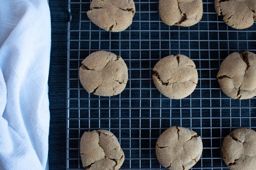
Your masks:
{"label": "brown cookie in the top row nearest the white cloth", "polygon": [[106,31],[123,31],[132,23],[135,13],[133,0],[92,0],[88,18]]}

